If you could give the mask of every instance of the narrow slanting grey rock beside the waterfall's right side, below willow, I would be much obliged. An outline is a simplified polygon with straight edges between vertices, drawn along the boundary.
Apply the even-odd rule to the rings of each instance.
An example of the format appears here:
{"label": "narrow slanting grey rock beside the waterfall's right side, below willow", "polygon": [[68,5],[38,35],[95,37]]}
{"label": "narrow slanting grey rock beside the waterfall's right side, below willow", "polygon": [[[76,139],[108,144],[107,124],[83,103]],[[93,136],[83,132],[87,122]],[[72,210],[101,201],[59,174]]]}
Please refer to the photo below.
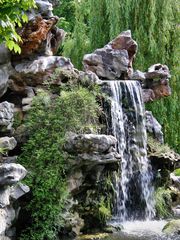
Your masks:
{"label": "narrow slanting grey rock beside the waterfall's right side, below willow", "polygon": [[152,112],[146,111],[146,129],[153,135],[160,143],[164,142],[162,127],[159,122],[153,117]]}

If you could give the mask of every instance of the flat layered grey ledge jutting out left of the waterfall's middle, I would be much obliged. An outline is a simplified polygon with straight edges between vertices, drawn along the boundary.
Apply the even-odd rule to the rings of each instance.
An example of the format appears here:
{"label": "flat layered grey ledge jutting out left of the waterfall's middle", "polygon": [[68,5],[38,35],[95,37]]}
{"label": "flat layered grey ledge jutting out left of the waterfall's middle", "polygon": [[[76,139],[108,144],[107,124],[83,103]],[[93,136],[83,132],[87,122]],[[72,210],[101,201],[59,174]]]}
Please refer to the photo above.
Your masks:
{"label": "flat layered grey ledge jutting out left of the waterfall's middle", "polygon": [[87,166],[119,162],[121,156],[115,151],[116,138],[110,135],[71,134],[64,149],[76,156],[72,165]]}

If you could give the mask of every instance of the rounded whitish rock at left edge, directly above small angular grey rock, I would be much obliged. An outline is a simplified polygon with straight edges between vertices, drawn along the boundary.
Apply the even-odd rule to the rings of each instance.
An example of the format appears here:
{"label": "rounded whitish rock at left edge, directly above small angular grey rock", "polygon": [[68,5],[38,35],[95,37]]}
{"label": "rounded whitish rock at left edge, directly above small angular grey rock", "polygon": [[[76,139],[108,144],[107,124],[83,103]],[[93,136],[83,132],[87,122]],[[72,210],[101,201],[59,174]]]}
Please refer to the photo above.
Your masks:
{"label": "rounded whitish rock at left edge, directly above small angular grey rock", "polygon": [[20,164],[4,163],[0,165],[0,186],[13,185],[22,180],[27,174]]}

